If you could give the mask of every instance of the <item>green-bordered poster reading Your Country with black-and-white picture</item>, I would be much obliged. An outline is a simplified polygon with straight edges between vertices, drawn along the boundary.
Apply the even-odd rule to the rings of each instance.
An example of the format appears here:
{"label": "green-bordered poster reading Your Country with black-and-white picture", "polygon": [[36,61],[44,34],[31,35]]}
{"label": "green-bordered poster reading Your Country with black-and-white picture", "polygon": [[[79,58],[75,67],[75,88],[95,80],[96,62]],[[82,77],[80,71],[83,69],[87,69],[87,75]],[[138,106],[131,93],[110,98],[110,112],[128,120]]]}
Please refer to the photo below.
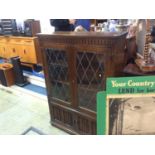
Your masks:
{"label": "green-bordered poster reading Your Country with black-and-white picture", "polygon": [[154,76],[108,78],[103,96],[102,104],[97,100],[98,134],[155,134]]}

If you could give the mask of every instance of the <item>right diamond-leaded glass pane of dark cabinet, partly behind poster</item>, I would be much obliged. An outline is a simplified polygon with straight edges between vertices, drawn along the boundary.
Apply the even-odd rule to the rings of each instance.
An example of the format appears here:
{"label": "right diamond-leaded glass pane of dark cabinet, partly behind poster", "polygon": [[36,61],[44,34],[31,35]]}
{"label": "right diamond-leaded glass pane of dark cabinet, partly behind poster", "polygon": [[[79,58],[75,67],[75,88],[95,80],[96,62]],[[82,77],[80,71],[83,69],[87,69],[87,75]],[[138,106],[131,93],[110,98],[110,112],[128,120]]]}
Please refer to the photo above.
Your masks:
{"label": "right diamond-leaded glass pane of dark cabinet, partly behind poster", "polygon": [[103,55],[77,53],[77,81],[79,106],[96,111],[96,93],[103,90]]}

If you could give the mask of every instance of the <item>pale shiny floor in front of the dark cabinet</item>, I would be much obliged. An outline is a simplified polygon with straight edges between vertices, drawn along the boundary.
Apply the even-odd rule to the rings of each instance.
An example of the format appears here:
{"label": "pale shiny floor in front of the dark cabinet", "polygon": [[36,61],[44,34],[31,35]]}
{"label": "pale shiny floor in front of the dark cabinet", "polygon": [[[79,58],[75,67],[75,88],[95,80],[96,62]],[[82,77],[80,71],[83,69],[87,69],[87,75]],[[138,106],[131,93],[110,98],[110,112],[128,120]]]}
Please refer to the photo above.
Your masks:
{"label": "pale shiny floor in front of the dark cabinet", "polygon": [[21,135],[31,126],[47,135],[68,135],[51,126],[47,100],[0,85],[0,135]]}

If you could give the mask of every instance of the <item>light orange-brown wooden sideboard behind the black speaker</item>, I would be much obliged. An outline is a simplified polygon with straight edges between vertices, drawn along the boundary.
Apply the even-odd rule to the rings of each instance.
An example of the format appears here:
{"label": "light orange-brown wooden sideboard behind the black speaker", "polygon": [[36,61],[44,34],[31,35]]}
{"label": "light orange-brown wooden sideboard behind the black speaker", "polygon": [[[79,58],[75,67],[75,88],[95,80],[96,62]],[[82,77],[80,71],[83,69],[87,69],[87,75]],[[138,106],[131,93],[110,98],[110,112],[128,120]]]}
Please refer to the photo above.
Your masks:
{"label": "light orange-brown wooden sideboard behind the black speaker", "polygon": [[19,56],[21,62],[40,64],[41,55],[37,37],[0,36],[0,57]]}

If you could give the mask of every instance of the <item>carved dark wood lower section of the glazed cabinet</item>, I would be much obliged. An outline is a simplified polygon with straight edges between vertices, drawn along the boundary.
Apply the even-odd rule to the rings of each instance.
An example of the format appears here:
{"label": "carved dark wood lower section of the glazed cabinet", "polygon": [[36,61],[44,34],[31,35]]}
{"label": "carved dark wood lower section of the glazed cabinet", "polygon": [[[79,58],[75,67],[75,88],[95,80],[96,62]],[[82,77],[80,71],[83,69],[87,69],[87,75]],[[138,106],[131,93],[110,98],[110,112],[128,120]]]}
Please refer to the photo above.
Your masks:
{"label": "carved dark wood lower section of the glazed cabinet", "polygon": [[50,108],[52,125],[70,134],[96,134],[95,117],[58,104],[52,104]]}

